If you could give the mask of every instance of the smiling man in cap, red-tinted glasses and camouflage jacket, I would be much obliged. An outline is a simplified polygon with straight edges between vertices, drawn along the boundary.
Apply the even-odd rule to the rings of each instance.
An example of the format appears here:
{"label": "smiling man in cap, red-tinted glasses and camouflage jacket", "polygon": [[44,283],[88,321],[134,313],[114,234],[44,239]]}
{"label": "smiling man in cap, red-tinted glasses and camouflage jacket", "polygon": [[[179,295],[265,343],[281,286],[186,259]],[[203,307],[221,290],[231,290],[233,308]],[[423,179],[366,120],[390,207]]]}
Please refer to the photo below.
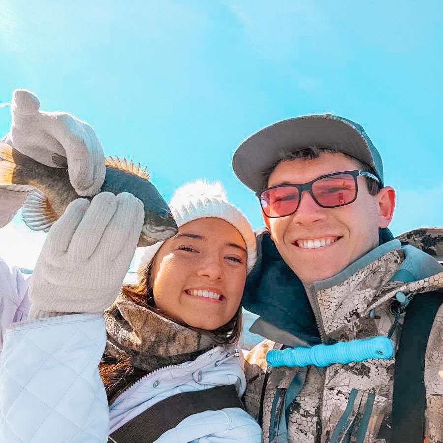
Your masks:
{"label": "smiling man in cap, red-tinted glasses and camouflage jacket", "polygon": [[[245,396],[263,442],[442,441],[442,266],[387,229],[395,191],[364,129],[333,115],[278,122],[243,142],[233,167],[267,227],[244,296],[261,316],[251,330],[269,339],[248,357]],[[265,358],[377,336],[390,358]]]}

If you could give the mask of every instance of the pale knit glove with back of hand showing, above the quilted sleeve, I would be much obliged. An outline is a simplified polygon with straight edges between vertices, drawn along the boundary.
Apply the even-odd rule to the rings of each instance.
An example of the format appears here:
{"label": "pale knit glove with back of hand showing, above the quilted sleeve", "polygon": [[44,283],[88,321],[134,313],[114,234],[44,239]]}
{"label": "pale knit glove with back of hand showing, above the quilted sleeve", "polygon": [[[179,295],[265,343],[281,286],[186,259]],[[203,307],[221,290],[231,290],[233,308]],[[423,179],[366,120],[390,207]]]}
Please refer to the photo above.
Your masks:
{"label": "pale knit glove with back of hand showing, above the quilted sleeve", "polygon": [[71,202],[35,265],[29,318],[108,308],[119,294],[143,219],[143,204],[127,192]]}

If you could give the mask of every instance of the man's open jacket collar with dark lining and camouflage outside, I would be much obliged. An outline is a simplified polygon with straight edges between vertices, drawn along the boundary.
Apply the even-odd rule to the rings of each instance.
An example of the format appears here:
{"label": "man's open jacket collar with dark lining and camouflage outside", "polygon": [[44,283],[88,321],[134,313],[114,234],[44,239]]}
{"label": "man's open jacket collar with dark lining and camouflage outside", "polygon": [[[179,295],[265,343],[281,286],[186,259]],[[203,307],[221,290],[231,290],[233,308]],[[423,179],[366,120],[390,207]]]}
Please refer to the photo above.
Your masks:
{"label": "man's open jacket collar with dark lining and camouflage outside", "polygon": [[266,232],[258,233],[257,240],[259,261],[244,297],[246,309],[261,315],[251,332],[288,346],[316,344],[319,336],[325,340],[345,321],[367,315],[371,304],[381,298],[387,300],[385,295],[396,287],[400,290],[405,283],[421,281],[442,270],[430,255],[409,245],[402,247],[399,240],[387,237],[385,243],[340,273],[304,286],[283,264]]}

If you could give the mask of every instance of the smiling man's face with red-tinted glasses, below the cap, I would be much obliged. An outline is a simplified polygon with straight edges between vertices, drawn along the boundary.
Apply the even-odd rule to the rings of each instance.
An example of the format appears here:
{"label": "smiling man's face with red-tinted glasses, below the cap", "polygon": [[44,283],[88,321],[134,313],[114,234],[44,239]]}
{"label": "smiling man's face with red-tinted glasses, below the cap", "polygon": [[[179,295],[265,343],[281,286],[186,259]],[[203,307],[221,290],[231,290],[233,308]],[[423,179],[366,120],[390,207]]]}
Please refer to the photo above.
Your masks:
{"label": "smiling man's face with red-tinted glasses, below the cap", "polygon": [[[337,274],[378,245],[379,227],[392,218],[395,192],[379,190],[380,180],[364,176],[362,165],[344,154],[299,152],[307,157],[281,161],[259,195],[280,254],[303,282],[312,283]],[[293,183],[311,184],[311,193]],[[368,186],[373,183],[375,195]]]}

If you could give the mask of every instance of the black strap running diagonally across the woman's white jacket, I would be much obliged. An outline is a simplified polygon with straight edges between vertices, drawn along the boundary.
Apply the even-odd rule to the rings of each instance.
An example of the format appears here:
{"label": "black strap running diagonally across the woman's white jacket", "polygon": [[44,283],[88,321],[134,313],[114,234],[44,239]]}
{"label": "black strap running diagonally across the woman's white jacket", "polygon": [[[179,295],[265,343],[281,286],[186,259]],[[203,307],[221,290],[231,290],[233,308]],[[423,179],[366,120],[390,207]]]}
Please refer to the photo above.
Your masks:
{"label": "black strap running diagonally across the woman's white jacket", "polygon": [[183,392],[165,398],[114,431],[108,443],[151,443],[186,417],[224,408],[244,409],[234,385]]}

